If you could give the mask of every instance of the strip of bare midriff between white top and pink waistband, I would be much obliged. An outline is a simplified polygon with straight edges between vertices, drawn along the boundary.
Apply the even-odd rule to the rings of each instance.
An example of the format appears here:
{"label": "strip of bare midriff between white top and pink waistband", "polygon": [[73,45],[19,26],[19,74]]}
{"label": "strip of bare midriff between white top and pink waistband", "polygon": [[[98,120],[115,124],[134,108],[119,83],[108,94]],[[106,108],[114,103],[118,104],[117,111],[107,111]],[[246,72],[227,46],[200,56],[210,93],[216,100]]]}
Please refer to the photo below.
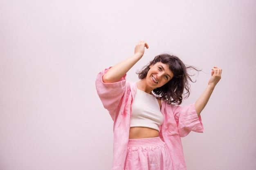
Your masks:
{"label": "strip of bare midriff between white top and pink waistband", "polygon": [[129,139],[142,139],[158,136],[159,132],[157,130],[147,127],[131,127],[129,133]]}

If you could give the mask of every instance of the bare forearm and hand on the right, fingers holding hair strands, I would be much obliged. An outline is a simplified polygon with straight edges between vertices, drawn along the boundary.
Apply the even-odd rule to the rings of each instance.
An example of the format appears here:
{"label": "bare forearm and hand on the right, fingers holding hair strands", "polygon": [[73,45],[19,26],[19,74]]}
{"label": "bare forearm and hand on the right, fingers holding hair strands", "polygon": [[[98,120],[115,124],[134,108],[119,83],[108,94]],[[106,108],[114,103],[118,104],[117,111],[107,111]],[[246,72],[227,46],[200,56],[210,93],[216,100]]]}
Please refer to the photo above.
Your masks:
{"label": "bare forearm and hand on the right, fingers holding hair strands", "polygon": [[204,92],[202,93],[202,95],[195,102],[195,111],[196,111],[196,113],[198,113],[198,115],[200,115],[201,111],[206,106],[206,104],[213,92],[213,89],[215,88],[215,86],[217,85],[217,83],[220,81],[220,78],[221,78],[221,72],[222,72],[221,68],[213,67],[213,69],[211,69],[211,70],[212,70],[211,78],[208,82],[208,85],[207,85],[206,89],[204,90]]}

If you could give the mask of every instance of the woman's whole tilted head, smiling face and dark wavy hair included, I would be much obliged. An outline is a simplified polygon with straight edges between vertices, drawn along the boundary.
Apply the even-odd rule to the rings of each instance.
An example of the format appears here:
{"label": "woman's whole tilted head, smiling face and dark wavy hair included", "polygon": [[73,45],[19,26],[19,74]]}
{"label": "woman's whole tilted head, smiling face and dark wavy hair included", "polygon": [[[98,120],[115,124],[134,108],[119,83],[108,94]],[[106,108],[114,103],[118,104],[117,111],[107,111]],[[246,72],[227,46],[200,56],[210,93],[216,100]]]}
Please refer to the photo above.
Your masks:
{"label": "woman's whole tilted head, smiling face and dark wavy hair included", "polygon": [[199,71],[192,66],[186,66],[175,55],[157,55],[142,70],[137,72],[140,79],[137,82],[137,88],[149,94],[153,90],[154,94],[160,98],[164,98],[169,103],[180,105],[183,97],[188,97],[190,93],[189,81],[192,80],[187,69]]}

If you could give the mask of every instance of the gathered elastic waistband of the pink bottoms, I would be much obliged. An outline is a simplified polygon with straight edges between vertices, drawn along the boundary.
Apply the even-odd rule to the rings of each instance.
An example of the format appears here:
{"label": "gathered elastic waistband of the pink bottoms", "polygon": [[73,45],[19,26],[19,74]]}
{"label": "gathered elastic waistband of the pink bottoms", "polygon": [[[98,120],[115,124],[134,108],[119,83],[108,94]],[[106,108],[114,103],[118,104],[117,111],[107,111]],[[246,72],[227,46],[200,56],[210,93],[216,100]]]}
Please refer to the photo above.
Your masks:
{"label": "gathered elastic waistband of the pink bottoms", "polygon": [[143,138],[143,139],[129,139],[128,140],[128,147],[135,147],[135,146],[153,146],[153,145],[162,145],[164,142],[160,137],[150,137],[150,138]]}

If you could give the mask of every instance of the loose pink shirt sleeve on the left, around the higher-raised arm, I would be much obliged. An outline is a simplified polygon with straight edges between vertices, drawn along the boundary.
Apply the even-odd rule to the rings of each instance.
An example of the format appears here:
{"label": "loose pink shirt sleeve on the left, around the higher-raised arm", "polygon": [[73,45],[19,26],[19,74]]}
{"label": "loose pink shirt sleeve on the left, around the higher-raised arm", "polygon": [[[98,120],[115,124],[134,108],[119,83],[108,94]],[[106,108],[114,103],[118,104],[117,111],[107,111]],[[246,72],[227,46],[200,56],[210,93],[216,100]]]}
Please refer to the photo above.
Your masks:
{"label": "loose pink shirt sleeve on the left, around the higher-raised arm", "polygon": [[96,86],[99,98],[101,99],[101,102],[103,104],[103,107],[108,110],[112,120],[114,120],[115,109],[117,109],[119,102],[126,90],[126,79],[125,79],[126,75],[124,75],[118,82],[104,83],[102,81],[102,76],[106,72],[108,72],[110,68],[99,72],[99,74],[96,77],[95,86]]}

